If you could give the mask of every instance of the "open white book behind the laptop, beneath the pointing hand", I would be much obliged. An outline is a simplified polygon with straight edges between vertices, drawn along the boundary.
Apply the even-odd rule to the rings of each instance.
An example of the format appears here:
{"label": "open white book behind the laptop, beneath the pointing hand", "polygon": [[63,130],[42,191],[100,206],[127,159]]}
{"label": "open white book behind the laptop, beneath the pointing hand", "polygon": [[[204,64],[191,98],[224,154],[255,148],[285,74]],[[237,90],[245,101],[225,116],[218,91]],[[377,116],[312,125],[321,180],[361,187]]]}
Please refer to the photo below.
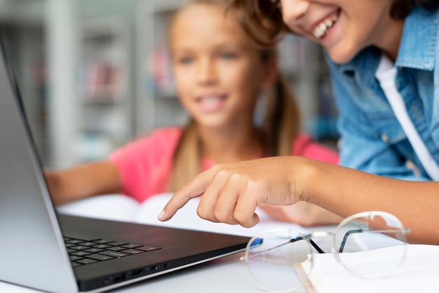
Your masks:
{"label": "open white book behind the laptop, beneath the pointing hand", "polygon": [[58,207],[58,212],[63,214],[79,215],[83,217],[94,217],[99,219],[112,219],[123,222],[135,222],[140,224],[172,226],[182,229],[193,229],[201,231],[212,231],[216,233],[226,233],[241,236],[255,236],[259,231],[289,226],[301,233],[307,233],[302,226],[278,222],[270,219],[263,210],[258,209],[260,222],[252,228],[244,228],[239,225],[229,225],[224,223],[213,223],[201,219],[196,214],[199,198],[194,198],[184,205],[177,214],[167,222],[160,222],[158,214],[168,203],[172,193],[163,193],[153,196],[143,203],[137,202],[128,196],[112,194],[107,196],[94,196],[67,205]]}

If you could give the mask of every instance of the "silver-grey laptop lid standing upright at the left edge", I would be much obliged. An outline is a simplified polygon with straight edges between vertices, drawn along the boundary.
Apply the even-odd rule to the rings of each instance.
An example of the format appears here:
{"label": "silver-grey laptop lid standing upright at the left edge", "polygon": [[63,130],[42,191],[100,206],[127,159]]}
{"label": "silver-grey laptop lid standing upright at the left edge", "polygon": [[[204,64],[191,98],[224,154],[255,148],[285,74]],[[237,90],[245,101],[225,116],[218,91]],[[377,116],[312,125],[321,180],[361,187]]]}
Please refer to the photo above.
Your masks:
{"label": "silver-grey laptop lid standing upright at the left edge", "polygon": [[0,280],[49,292],[77,292],[10,73],[0,34]]}

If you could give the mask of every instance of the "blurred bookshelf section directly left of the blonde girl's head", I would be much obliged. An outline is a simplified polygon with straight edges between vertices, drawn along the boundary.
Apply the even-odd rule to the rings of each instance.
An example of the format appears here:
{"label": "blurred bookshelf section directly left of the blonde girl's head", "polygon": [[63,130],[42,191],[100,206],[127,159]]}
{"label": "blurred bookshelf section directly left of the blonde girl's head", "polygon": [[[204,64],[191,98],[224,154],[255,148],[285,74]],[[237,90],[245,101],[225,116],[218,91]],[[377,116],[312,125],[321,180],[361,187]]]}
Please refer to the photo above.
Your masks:
{"label": "blurred bookshelf section directly left of the blonde girl's head", "polygon": [[167,46],[170,20],[184,2],[145,0],[137,4],[137,132],[187,121],[175,90]]}

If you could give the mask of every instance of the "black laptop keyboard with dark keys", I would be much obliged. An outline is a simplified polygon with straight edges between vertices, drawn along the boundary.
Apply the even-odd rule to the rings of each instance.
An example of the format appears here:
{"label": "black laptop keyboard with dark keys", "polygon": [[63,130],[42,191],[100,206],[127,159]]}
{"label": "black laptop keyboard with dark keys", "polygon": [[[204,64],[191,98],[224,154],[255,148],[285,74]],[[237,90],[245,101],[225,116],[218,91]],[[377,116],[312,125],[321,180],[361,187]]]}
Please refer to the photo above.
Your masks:
{"label": "black laptop keyboard with dark keys", "polygon": [[97,261],[107,261],[161,249],[153,245],[108,239],[81,240],[65,237],[64,242],[72,266],[94,264]]}

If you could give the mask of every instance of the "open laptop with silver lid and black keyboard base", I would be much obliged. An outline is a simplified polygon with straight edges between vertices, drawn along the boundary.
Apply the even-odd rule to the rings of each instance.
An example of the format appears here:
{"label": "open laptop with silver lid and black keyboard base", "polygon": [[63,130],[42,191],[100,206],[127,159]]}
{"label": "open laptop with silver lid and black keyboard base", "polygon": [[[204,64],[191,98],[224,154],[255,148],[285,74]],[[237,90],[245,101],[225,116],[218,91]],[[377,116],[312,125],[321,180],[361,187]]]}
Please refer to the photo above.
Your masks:
{"label": "open laptop with silver lid and black keyboard base", "polygon": [[0,281],[103,292],[245,250],[243,236],[58,214],[0,34]]}

